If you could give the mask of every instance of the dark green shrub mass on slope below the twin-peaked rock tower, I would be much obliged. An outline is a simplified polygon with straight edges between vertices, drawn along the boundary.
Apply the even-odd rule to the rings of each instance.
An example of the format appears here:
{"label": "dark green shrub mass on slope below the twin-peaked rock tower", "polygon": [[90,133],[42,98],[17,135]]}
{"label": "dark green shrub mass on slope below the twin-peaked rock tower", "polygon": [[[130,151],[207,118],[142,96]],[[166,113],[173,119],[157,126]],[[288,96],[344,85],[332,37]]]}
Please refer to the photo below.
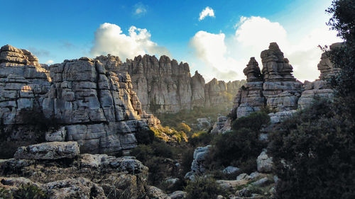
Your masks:
{"label": "dark green shrub mass on slope below the twin-peaked rock tower", "polygon": [[256,171],[256,158],[266,147],[258,139],[259,130],[268,125],[270,118],[264,112],[252,113],[248,117],[234,120],[232,130],[216,135],[207,159],[210,169],[238,166],[250,174]]}

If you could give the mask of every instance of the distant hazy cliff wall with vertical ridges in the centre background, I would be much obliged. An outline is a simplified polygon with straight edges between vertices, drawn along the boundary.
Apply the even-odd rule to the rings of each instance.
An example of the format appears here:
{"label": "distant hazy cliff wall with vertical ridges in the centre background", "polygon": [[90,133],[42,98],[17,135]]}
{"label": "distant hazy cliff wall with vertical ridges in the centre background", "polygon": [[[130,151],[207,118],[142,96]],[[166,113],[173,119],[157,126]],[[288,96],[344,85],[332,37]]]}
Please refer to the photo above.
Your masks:
{"label": "distant hazy cliff wall with vertical ridges in the centre background", "polygon": [[127,72],[132,79],[144,110],[153,113],[178,112],[194,106],[219,106],[231,103],[232,97],[244,81],[217,81],[205,84],[197,71],[190,74],[187,63],[162,56],[144,55],[127,59],[122,63],[119,57],[111,55],[97,57],[108,71]]}

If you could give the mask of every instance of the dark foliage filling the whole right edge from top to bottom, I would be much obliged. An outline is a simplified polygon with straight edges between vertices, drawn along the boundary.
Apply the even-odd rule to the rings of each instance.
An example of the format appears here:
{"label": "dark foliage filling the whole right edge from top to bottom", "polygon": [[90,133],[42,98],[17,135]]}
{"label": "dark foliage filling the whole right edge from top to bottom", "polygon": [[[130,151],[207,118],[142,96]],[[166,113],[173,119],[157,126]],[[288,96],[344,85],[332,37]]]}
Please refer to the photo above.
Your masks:
{"label": "dark foliage filling the whole right edge from top to bottom", "polygon": [[355,198],[355,1],[333,1],[327,11],[345,41],[327,51],[341,69],[329,82],[336,97],[318,99],[273,133],[276,198]]}

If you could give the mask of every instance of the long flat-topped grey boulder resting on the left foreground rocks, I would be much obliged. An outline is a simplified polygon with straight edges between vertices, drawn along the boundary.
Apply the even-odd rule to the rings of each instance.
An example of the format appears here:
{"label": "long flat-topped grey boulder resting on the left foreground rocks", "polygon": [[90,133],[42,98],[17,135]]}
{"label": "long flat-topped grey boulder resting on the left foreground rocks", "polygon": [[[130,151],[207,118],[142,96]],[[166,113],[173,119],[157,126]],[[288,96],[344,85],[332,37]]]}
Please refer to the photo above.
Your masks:
{"label": "long flat-topped grey boulder resting on the left foreground rocks", "polygon": [[62,159],[80,154],[77,142],[45,142],[28,147],[18,147],[16,159]]}

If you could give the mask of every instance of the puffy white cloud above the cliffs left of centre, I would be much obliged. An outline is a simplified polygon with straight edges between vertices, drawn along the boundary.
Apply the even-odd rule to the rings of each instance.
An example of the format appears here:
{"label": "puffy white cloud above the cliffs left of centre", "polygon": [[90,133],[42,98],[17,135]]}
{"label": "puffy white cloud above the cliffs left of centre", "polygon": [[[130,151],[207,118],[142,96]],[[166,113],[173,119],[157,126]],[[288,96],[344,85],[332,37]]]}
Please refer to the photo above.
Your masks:
{"label": "puffy white cloud above the cliffs left of centre", "polygon": [[94,46],[90,53],[98,55],[118,55],[121,59],[132,59],[138,55],[170,55],[165,47],[151,41],[151,33],[147,29],[131,26],[125,35],[119,25],[103,23],[97,28]]}

